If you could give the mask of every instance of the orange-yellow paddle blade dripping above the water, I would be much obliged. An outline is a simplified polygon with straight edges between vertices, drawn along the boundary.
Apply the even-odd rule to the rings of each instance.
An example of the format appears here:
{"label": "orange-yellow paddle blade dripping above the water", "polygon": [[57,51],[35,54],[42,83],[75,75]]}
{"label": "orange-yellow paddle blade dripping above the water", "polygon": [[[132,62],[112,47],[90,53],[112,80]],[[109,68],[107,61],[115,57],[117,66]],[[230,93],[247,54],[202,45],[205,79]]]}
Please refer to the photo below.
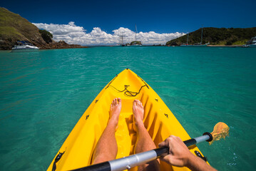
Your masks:
{"label": "orange-yellow paddle blade dripping above the water", "polygon": [[225,123],[217,123],[213,128],[213,133],[210,133],[213,135],[213,140],[209,142],[211,145],[214,141],[220,140],[221,138],[225,138],[228,136],[230,128]]}

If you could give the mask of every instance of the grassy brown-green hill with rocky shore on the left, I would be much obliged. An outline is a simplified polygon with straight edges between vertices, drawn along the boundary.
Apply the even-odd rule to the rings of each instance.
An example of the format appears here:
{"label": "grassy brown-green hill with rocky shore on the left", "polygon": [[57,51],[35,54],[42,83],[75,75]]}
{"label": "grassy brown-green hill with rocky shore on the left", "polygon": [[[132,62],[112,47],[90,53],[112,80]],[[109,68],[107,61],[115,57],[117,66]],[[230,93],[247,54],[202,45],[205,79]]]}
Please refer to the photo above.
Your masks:
{"label": "grassy brown-green hill with rocky shore on the left", "polygon": [[82,48],[80,45],[68,45],[64,41],[45,41],[39,28],[28,20],[0,7],[0,49],[10,50],[16,41],[29,41],[39,48]]}

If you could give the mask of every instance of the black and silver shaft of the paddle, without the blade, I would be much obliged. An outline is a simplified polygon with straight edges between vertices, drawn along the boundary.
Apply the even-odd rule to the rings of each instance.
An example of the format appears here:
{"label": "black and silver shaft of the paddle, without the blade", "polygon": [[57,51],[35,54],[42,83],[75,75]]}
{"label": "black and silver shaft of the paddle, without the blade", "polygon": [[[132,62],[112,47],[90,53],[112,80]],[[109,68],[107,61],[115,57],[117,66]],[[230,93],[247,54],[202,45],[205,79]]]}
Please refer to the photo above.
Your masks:
{"label": "black and silver shaft of the paddle, without the blade", "polygon": [[[211,141],[213,136],[210,133],[204,133],[203,136],[198,138],[192,138],[190,140],[183,141],[187,147],[196,145],[199,142]],[[101,162],[96,165],[90,165],[87,167],[82,167],[72,171],[118,171],[118,170],[129,170],[131,167],[142,165],[146,162],[150,162],[160,157],[163,154],[168,154],[168,147],[160,147],[154,150],[149,150],[147,152],[140,152],[135,155],[130,155],[128,157],[123,157],[116,160],[111,160],[108,162]]]}

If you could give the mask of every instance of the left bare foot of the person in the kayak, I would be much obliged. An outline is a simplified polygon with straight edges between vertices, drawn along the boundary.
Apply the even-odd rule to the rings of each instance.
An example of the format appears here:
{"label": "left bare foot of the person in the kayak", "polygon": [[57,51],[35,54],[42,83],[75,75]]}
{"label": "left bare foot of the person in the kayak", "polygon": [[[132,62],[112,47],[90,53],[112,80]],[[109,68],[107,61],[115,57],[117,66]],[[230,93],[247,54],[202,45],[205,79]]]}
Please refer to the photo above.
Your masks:
{"label": "left bare foot of the person in the kayak", "polygon": [[121,112],[121,108],[121,98],[114,98],[111,103],[111,109],[109,110],[109,120],[113,120],[116,125],[118,125],[118,118]]}

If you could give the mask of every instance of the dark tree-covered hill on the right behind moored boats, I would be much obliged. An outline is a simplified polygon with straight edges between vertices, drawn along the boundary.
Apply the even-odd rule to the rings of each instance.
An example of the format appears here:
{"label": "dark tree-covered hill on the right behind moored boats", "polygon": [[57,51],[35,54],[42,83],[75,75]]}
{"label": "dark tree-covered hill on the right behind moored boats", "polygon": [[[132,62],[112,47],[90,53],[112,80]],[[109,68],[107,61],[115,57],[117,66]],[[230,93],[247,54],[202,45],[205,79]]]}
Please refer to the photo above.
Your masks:
{"label": "dark tree-covered hill on the right behind moored boats", "polygon": [[[202,29],[189,33],[189,36],[181,36],[166,43],[166,46],[180,46],[182,43],[200,43]],[[202,43],[210,42],[211,45],[241,45],[245,44],[253,36],[256,36],[256,27],[252,28],[203,28]]]}

